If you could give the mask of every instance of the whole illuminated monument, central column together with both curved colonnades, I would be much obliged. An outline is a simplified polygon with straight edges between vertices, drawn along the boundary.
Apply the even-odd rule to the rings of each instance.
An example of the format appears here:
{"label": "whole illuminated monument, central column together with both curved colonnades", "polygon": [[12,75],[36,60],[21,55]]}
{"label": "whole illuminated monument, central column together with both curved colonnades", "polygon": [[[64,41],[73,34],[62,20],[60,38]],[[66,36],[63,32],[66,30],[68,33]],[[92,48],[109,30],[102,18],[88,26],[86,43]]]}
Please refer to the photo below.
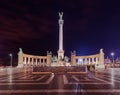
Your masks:
{"label": "whole illuminated monument, central column together with both curved colonnades", "polygon": [[[96,70],[104,69],[104,52],[100,49],[98,54],[88,56],[77,56],[76,52],[71,52],[71,60],[67,62],[63,59],[63,12],[59,12],[59,50],[57,57],[52,57],[52,53],[47,51],[46,56],[36,56],[23,53],[22,49],[19,49],[18,53],[18,67],[24,66],[94,66]],[[54,59],[54,60],[53,60]],[[69,63],[69,64],[68,64]]]}

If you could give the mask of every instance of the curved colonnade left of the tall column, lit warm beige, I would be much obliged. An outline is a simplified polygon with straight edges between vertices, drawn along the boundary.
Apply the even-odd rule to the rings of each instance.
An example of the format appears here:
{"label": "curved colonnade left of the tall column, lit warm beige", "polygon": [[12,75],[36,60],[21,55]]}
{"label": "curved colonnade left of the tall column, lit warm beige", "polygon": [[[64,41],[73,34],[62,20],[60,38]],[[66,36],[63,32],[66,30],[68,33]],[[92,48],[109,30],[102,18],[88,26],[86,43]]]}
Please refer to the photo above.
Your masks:
{"label": "curved colonnade left of the tall column, lit warm beige", "polygon": [[51,58],[50,53],[47,53],[47,56],[36,56],[24,54],[21,50],[18,53],[18,66],[49,66]]}

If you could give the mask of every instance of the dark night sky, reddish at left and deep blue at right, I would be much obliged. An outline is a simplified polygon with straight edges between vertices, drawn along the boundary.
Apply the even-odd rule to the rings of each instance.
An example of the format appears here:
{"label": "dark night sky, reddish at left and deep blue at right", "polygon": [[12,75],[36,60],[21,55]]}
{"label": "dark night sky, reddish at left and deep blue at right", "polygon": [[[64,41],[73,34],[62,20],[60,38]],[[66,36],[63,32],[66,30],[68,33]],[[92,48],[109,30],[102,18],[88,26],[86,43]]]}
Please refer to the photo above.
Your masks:
{"label": "dark night sky, reddish at left and deep blue at right", "polygon": [[24,53],[57,55],[58,12],[64,12],[64,50],[120,56],[119,0],[0,0],[0,59]]}

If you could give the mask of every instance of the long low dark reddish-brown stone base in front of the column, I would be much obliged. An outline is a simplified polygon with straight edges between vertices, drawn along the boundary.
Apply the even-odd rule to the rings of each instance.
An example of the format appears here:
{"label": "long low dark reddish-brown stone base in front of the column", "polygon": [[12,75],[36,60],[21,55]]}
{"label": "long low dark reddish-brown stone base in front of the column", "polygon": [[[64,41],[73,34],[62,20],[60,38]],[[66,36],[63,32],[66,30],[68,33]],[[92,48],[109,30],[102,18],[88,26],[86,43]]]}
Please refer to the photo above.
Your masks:
{"label": "long low dark reddish-brown stone base in front of the column", "polygon": [[[43,72],[43,73],[42,73]],[[33,74],[85,74],[87,73],[86,66],[36,66],[33,67]]]}

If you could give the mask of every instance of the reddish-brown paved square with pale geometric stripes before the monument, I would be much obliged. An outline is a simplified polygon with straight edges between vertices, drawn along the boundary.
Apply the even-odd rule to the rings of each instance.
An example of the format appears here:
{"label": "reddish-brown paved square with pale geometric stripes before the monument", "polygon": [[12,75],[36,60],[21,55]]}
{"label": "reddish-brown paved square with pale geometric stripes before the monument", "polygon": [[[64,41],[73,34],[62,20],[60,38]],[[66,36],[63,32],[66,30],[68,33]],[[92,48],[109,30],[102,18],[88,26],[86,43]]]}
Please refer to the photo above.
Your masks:
{"label": "reddish-brown paved square with pale geometric stripes before the monument", "polygon": [[33,75],[29,68],[0,68],[0,95],[120,95],[119,71]]}

